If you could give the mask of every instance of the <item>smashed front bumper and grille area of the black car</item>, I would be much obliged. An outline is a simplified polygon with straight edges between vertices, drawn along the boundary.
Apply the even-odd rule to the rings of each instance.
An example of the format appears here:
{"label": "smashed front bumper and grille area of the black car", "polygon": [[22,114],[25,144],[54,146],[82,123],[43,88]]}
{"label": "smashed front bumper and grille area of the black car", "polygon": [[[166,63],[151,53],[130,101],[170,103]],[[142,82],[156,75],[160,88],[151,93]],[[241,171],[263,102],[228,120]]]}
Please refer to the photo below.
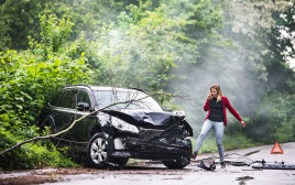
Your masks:
{"label": "smashed front bumper and grille area of the black car", "polygon": [[113,140],[112,156],[146,160],[171,160],[190,157],[192,142],[185,126],[174,124],[165,130],[140,128],[138,135],[117,132]]}

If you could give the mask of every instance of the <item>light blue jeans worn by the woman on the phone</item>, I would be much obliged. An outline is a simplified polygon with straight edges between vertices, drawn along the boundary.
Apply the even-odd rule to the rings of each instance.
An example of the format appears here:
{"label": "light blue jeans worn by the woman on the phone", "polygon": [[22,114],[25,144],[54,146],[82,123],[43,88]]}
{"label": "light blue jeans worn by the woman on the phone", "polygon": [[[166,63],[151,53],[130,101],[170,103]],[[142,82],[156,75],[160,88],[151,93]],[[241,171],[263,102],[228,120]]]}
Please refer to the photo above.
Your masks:
{"label": "light blue jeans worn by the woman on the phone", "polygon": [[195,148],[195,153],[197,154],[203,141],[205,140],[207,133],[211,130],[215,129],[215,137],[216,137],[216,144],[218,146],[218,152],[219,152],[219,157],[220,162],[223,162],[225,156],[223,156],[223,145],[222,145],[222,138],[223,138],[223,131],[225,131],[225,124],[223,122],[216,122],[211,121],[209,119],[206,119],[206,121],[203,124],[196,148]]}

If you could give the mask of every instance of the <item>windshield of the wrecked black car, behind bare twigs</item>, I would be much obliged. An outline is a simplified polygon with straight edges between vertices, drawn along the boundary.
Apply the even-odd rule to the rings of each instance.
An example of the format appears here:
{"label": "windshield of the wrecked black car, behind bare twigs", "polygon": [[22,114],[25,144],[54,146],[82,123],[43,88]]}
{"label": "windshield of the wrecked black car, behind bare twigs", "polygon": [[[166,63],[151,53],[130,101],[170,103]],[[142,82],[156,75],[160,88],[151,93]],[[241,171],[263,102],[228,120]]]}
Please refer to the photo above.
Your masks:
{"label": "windshield of the wrecked black car, behind bare twigs", "polygon": [[[117,90],[105,90],[95,91],[95,97],[98,102],[98,108],[105,108],[116,102],[118,104],[109,107],[108,109],[149,109],[154,111],[162,111],[161,106],[150,96],[141,91],[117,91]],[[129,101],[129,102],[125,102]]]}

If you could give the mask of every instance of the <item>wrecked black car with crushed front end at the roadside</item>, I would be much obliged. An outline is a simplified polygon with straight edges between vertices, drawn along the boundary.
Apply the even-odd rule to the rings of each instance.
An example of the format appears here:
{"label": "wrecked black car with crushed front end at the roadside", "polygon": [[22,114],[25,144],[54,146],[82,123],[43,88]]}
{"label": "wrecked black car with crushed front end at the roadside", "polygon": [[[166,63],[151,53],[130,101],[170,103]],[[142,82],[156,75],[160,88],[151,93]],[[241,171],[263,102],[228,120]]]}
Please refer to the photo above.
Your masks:
{"label": "wrecked black car with crushed front end at the roadside", "polygon": [[85,153],[92,167],[123,166],[130,157],[159,160],[168,168],[190,162],[193,130],[184,112],[166,111],[141,89],[64,87],[44,107],[40,127],[58,132],[84,116],[57,138]]}

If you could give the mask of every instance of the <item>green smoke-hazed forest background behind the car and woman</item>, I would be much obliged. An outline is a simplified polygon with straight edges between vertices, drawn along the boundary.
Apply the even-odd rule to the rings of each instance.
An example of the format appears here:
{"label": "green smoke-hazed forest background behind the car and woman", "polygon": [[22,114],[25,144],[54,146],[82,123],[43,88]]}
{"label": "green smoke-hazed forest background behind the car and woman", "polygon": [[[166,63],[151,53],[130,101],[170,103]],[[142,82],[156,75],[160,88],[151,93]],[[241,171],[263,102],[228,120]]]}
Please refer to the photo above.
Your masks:
{"label": "green smoke-hazed forest background behind the car and woman", "polygon": [[[295,141],[294,51],[287,0],[0,0],[0,151],[39,135],[44,102],[74,84],[183,97],[154,98],[197,137],[218,83],[247,123],[229,113],[226,150]],[[206,139],[201,152],[216,150]],[[0,170],[77,166],[66,152],[28,143]]]}

